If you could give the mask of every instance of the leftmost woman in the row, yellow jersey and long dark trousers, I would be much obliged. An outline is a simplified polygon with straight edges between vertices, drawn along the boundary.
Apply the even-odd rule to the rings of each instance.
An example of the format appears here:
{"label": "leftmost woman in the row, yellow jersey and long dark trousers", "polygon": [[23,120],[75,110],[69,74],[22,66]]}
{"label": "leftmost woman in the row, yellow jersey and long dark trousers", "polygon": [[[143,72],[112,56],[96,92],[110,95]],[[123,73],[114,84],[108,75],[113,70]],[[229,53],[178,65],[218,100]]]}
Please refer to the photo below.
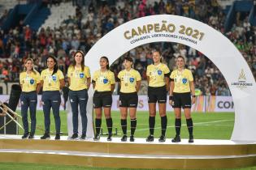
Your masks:
{"label": "leftmost woman in the row, yellow jersey and long dark trousers", "polygon": [[[40,91],[40,74],[33,68],[33,59],[28,58],[24,63],[24,71],[20,73],[21,115],[24,126],[22,138],[34,138],[37,125],[37,93]],[[31,119],[31,131],[28,132],[28,108]],[[29,134],[29,136],[28,136]]]}

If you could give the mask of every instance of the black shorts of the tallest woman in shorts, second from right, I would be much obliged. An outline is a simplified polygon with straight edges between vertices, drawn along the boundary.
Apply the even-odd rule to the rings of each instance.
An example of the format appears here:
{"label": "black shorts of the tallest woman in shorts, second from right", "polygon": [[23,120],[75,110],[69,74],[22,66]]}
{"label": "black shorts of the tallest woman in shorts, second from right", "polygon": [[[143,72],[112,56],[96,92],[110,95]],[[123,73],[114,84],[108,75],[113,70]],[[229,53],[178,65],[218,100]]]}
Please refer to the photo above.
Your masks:
{"label": "black shorts of the tallest woman in shorts, second from right", "polygon": [[167,103],[167,87],[148,87],[148,103]]}

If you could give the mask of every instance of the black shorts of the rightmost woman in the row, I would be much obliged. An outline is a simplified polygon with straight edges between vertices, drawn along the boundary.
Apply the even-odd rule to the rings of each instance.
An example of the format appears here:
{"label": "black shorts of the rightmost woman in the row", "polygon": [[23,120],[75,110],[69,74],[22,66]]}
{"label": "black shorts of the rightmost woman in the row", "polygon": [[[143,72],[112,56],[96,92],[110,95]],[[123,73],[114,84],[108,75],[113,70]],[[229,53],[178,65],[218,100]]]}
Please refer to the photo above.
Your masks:
{"label": "black shorts of the rightmost woman in the row", "polygon": [[190,92],[173,93],[172,108],[191,108]]}

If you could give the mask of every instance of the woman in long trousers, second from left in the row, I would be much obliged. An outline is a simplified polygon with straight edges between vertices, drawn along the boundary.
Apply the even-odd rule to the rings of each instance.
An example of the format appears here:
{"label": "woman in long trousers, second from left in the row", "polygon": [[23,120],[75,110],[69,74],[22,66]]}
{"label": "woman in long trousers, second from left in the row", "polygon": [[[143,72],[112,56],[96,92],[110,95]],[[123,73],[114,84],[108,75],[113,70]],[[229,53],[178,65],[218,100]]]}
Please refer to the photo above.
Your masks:
{"label": "woman in long trousers, second from left in the row", "polygon": [[41,71],[41,87],[43,87],[43,93],[41,96],[43,111],[45,116],[45,134],[41,136],[41,139],[50,138],[50,108],[53,109],[56,136],[55,140],[60,139],[60,90],[64,87],[64,75],[59,70],[58,62],[54,56],[48,56],[46,58],[47,69]]}

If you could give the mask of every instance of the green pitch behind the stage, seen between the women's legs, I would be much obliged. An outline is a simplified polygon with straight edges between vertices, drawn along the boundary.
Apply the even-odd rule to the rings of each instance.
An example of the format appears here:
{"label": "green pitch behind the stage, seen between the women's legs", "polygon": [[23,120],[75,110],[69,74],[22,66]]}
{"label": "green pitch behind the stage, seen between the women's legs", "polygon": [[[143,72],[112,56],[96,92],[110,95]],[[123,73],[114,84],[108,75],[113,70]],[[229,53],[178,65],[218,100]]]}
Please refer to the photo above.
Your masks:
{"label": "green pitch behind the stage, seen between the women's legs", "polygon": [[[18,111],[19,113],[19,111]],[[65,111],[60,112],[61,116],[61,131],[67,134],[67,113]],[[232,135],[232,130],[234,126],[234,113],[193,113],[193,125],[194,125],[194,138],[202,139],[229,139]],[[149,134],[149,124],[148,118],[149,113],[147,112],[137,112],[137,130],[135,132],[136,138],[146,138]],[[112,112],[113,118],[113,133],[115,133],[115,128],[117,129],[117,135],[114,137],[120,137],[122,135],[121,125],[120,125],[120,115],[119,112]],[[173,138],[175,135],[174,128],[174,113],[167,113],[167,138]],[[21,123],[21,120],[19,120]],[[44,129],[44,118],[42,111],[37,111],[37,126]],[[130,121],[128,118],[128,135]],[[184,115],[182,117],[182,127],[181,127],[181,138],[188,138],[188,130],[186,127],[186,121]],[[51,125],[50,130],[54,132],[54,117],[51,113]],[[104,116],[102,117],[102,130],[103,134],[107,133],[106,121]],[[19,130],[19,134],[23,134],[23,130]],[[36,131],[37,135],[41,135],[44,132],[41,130]],[[160,117],[157,113],[154,136],[158,138],[161,133]]]}

